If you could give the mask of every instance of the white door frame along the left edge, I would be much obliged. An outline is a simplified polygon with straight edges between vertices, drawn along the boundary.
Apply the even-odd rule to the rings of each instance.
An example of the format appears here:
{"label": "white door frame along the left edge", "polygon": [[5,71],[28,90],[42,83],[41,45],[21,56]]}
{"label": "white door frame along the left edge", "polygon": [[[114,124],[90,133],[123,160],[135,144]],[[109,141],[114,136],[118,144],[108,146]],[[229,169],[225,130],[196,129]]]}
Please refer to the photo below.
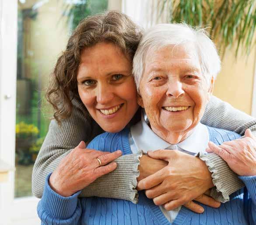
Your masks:
{"label": "white door frame along the left edge", "polygon": [[[0,159],[15,166],[17,0],[0,0]],[[35,197],[14,199],[14,171],[0,184],[0,225],[39,224]]]}

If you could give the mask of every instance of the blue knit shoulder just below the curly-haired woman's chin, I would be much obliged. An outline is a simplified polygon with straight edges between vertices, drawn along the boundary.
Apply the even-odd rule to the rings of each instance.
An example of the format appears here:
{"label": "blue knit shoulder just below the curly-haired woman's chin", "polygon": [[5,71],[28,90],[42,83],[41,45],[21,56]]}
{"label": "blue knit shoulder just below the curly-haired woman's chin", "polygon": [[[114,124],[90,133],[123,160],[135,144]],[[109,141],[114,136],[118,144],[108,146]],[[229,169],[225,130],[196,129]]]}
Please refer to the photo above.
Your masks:
{"label": "blue knit shoulder just below the curly-haired woman's chin", "polygon": [[88,144],[87,148],[108,152],[122,150],[124,152],[125,148],[127,148],[127,143],[129,143],[129,132],[129,129],[124,129],[118,133],[102,133],[93,138],[93,140]]}

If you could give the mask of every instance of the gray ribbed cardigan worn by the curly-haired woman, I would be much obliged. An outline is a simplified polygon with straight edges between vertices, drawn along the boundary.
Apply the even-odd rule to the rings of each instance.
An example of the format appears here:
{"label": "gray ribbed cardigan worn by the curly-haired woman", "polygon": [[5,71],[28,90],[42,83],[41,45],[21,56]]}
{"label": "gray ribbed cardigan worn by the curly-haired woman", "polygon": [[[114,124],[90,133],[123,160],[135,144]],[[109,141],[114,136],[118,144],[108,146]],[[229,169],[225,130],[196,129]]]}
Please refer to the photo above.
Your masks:
{"label": "gray ribbed cardigan worn by the curly-haired woman", "polygon": [[[59,162],[81,140],[90,141],[94,136],[102,133],[93,119],[86,119],[86,109],[82,102],[73,99],[73,112],[68,119],[62,120],[59,126],[52,120],[48,134],[36,159],[32,174],[32,192],[37,198],[42,197],[45,177],[55,170]],[[88,116],[87,116],[88,117]],[[241,135],[247,128],[256,136],[256,119],[234,109],[228,103],[212,96],[201,122],[217,128],[232,130]],[[125,155],[115,160],[118,167],[111,173],[99,177],[85,187],[80,197],[120,198],[136,203],[138,201],[137,177],[138,164],[141,153]],[[212,173],[215,187],[211,196],[219,201],[229,200],[229,195],[243,187],[242,181],[230,170],[224,160],[211,153],[200,156]]]}

